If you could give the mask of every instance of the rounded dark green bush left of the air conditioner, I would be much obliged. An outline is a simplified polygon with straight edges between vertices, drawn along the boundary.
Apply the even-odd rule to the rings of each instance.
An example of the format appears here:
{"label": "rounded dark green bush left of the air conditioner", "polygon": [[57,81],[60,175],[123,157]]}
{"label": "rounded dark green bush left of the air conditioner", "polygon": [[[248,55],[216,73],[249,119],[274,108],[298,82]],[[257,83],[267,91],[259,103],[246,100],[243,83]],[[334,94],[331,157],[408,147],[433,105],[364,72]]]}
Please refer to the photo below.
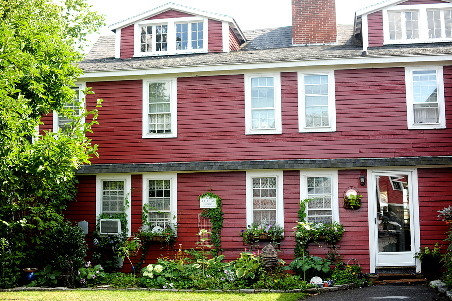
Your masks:
{"label": "rounded dark green bush left of the air conditioner", "polygon": [[[70,223],[57,224],[45,237],[45,251],[49,262],[56,270],[74,271],[85,265],[88,249],[83,230]],[[72,266],[70,262],[72,261]]]}

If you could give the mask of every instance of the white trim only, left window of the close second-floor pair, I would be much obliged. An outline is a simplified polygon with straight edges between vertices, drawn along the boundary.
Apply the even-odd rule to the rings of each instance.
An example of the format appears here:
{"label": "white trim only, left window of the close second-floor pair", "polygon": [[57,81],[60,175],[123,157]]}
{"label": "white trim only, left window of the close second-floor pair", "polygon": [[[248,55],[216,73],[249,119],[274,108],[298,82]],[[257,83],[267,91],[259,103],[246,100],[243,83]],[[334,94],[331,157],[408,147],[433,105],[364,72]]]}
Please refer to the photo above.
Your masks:
{"label": "white trim only, left window of the close second-floor pair", "polygon": [[[251,128],[251,78],[273,77],[275,100],[275,128],[252,129]],[[245,134],[282,134],[281,121],[281,73],[245,74]]]}

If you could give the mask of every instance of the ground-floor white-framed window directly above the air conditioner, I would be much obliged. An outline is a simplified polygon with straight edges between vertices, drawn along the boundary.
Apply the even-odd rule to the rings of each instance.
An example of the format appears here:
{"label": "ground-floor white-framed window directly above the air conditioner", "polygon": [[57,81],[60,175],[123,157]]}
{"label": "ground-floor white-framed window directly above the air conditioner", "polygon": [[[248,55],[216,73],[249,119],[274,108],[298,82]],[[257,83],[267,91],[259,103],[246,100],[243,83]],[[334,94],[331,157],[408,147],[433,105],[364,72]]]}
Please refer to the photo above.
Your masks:
{"label": "ground-floor white-framed window directly above the air conditioner", "polygon": [[125,213],[127,216],[128,235],[130,229],[130,191],[131,176],[128,175],[98,175],[96,179],[96,216],[100,214],[113,216]]}

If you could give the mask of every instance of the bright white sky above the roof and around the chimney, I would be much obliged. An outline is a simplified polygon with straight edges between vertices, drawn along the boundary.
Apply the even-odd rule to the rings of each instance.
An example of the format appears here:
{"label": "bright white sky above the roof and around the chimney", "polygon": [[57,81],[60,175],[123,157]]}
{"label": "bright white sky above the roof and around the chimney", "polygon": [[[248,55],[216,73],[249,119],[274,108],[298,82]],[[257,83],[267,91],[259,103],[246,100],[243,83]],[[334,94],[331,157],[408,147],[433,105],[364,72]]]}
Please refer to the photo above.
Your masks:
{"label": "bright white sky above the roof and around the chimney", "polygon": [[[355,11],[383,0],[336,0],[338,24],[353,24]],[[109,25],[144,13],[168,2],[227,15],[236,20],[241,30],[273,28],[292,25],[291,0],[87,0],[92,10],[106,16],[106,26],[100,34],[92,35],[94,43],[99,36],[112,35]],[[90,48],[90,47],[89,47]]]}

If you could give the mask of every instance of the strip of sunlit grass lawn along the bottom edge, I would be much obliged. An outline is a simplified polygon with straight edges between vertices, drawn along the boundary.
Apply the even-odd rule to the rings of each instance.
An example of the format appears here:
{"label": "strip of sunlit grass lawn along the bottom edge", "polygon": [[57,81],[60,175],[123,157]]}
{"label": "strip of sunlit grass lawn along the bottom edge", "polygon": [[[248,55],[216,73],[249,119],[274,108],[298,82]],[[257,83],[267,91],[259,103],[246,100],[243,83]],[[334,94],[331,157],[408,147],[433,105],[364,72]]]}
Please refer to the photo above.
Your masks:
{"label": "strip of sunlit grass lawn along the bottom edge", "polygon": [[17,291],[0,292],[5,301],[296,301],[304,293],[213,293],[213,292],[158,292],[158,291]]}

